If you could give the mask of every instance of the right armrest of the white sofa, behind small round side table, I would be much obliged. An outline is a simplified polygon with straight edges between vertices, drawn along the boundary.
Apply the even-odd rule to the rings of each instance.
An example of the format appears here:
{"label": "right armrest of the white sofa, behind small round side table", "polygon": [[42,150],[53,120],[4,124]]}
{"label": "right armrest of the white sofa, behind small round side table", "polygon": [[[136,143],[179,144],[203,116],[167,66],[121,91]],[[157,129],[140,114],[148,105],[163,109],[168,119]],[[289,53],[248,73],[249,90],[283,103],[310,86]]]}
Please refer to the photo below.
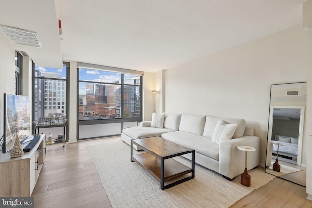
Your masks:
{"label": "right armrest of the white sofa, behind small round side table", "polygon": [[219,145],[219,173],[232,179],[245,170],[245,151],[237,148],[239,145],[251,146],[254,152],[247,152],[247,170],[260,164],[260,138],[243,136],[221,142]]}

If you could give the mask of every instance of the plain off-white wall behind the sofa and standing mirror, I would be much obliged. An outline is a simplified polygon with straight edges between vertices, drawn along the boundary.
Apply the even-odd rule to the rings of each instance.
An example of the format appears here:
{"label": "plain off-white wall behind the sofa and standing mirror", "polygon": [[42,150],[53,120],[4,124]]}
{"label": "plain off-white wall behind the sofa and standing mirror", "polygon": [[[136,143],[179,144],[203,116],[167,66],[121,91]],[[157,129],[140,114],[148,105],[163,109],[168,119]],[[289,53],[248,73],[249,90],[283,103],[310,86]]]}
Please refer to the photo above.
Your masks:
{"label": "plain off-white wall behind the sofa and standing mirror", "polygon": [[166,112],[244,118],[264,165],[270,86],[307,81],[306,40],[298,25],[166,70]]}

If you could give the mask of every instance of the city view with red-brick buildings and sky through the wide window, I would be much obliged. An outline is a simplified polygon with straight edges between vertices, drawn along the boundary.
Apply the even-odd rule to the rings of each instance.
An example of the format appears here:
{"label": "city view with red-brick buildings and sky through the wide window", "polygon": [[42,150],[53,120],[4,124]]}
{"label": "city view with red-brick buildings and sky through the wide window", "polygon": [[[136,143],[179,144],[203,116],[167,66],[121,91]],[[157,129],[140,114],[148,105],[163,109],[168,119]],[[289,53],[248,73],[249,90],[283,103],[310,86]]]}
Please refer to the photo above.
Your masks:
{"label": "city view with red-brick buildings and sky through the wide window", "polygon": [[79,120],[141,116],[141,76],[79,69]]}

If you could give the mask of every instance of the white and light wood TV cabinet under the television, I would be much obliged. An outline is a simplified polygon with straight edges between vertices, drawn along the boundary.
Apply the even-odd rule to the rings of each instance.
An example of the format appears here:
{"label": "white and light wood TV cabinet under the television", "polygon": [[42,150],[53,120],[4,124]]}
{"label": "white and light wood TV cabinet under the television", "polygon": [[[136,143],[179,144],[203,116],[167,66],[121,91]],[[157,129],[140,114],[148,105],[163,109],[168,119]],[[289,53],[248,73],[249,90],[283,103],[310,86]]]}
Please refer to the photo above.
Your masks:
{"label": "white and light wood TV cabinet under the television", "polygon": [[0,196],[31,196],[45,159],[45,135],[19,158],[11,153],[0,154]]}

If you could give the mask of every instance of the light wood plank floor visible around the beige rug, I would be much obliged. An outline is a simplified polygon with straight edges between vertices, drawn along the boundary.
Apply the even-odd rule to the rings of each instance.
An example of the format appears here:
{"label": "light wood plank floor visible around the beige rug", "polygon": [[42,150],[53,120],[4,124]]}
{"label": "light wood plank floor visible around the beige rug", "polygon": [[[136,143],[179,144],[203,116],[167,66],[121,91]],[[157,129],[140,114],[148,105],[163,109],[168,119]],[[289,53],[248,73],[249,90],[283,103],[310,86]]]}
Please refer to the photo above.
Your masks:
{"label": "light wood plank floor visible around the beige rug", "polygon": [[[117,141],[120,137],[48,145],[32,194],[35,208],[111,208],[86,146]],[[275,178],[231,208],[312,208],[306,197],[305,187]]]}

